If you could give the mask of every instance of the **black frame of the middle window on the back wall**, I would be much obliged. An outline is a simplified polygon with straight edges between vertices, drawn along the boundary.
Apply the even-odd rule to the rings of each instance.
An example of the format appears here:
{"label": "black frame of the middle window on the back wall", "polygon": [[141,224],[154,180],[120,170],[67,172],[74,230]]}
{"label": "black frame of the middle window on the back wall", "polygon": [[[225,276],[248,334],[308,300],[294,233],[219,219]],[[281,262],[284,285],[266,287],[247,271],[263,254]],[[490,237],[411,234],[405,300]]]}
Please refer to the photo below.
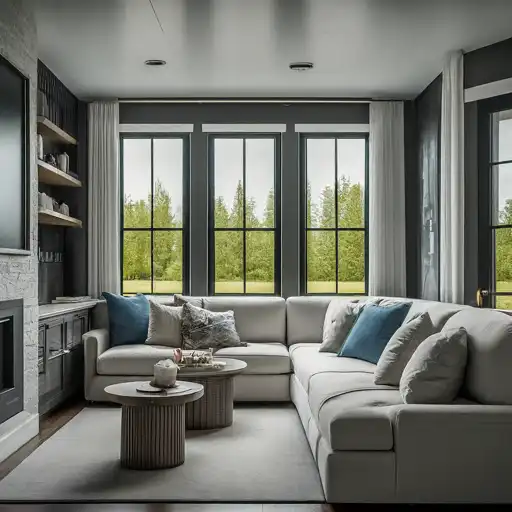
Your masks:
{"label": "black frame of the middle window on the back wall", "polygon": [[[241,228],[216,228],[215,227],[215,140],[216,139],[243,139],[243,188],[244,188],[244,227]],[[246,191],[246,140],[247,139],[272,139],[274,140],[274,227],[273,228],[247,228],[245,205]],[[233,132],[211,133],[207,136],[208,146],[208,294],[210,296],[280,296],[281,295],[281,133],[258,132]],[[215,292],[215,232],[232,231],[243,233],[243,293],[218,293]],[[274,291],[273,293],[247,293],[247,252],[246,233],[272,232],[274,233]]]}

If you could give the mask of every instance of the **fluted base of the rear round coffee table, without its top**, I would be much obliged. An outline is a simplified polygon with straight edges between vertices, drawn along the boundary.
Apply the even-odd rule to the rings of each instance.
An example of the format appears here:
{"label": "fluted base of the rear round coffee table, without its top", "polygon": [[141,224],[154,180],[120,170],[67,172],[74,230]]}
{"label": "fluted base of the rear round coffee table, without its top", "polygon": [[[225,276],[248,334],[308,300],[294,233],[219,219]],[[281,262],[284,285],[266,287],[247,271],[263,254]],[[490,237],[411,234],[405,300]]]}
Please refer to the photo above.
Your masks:
{"label": "fluted base of the rear round coffee table, without its top", "polygon": [[233,423],[233,377],[191,377],[187,380],[202,384],[204,395],[185,406],[188,430],[229,427]]}

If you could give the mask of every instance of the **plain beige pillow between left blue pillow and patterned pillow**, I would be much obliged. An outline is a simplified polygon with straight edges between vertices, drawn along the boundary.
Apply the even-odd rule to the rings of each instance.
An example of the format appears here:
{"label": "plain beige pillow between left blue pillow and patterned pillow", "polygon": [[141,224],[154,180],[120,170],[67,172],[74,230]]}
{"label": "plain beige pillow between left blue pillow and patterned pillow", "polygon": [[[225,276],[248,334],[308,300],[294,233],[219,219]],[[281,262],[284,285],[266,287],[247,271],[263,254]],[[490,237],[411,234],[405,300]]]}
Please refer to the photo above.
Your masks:
{"label": "plain beige pillow between left blue pillow and patterned pillow", "polygon": [[149,300],[148,345],[181,347],[181,307]]}

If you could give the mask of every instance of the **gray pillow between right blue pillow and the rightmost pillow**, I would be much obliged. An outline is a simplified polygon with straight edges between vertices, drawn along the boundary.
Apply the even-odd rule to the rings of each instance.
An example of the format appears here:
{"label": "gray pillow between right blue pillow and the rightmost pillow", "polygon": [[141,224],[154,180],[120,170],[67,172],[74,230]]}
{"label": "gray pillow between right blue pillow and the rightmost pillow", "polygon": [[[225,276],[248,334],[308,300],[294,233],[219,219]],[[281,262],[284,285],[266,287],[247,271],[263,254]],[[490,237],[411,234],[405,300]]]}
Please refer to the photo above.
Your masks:
{"label": "gray pillow between right blue pillow and the rightmost pillow", "polygon": [[375,368],[375,384],[398,386],[404,368],[418,345],[434,333],[428,313],[421,313],[399,327],[379,358]]}

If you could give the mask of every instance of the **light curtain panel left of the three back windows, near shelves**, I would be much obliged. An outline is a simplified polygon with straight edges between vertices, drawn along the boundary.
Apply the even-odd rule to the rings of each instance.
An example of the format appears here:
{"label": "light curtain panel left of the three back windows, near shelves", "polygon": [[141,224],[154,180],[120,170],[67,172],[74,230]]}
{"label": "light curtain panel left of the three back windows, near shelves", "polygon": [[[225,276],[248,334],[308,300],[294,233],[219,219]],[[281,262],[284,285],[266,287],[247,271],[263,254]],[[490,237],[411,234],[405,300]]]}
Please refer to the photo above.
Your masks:
{"label": "light curtain panel left of the three back windows, near shelves", "polygon": [[119,104],[89,104],[89,295],[119,293]]}

